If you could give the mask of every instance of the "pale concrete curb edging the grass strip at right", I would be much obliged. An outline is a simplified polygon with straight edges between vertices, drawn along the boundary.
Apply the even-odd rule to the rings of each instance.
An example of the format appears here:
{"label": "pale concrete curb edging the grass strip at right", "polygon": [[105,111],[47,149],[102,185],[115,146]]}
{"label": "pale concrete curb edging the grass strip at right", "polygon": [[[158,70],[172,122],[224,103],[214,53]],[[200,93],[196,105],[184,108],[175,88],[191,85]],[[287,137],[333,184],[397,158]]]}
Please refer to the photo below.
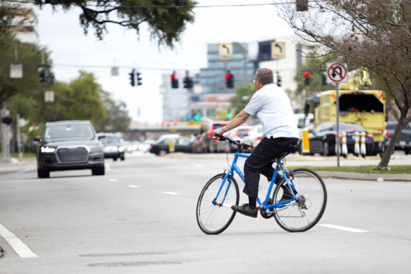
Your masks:
{"label": "pale concrete curb edging the grass strip at right", "polygon": [[334,171],[315,171],[315,173],[317,173],[321,178],[343,179],[353,181],[411,182],[411,174],[371,174]]}

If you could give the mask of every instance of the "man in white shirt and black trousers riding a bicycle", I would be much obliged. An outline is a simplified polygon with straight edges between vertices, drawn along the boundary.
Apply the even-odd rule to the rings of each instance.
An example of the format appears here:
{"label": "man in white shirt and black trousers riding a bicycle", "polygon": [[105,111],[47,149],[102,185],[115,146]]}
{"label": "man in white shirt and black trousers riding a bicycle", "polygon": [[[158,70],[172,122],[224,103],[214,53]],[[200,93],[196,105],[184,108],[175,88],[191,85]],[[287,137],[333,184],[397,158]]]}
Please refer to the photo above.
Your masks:
{"label": "man in white shirt and black trousers riding a bicycle", "polygon": [[[281,88],[274,85],[273,71],[265,68],[257,69],[253,82],[257,91],[244,110],[225,127],[213,132],[223,135],[224,132],[247,121],[249,115],[256,113],[257,118],[263,124],[264,135],[261,142],[258,146],[254,145],[252,154],[244,164],[243,192],[248,195],[249,203],[232,206],[232,210],[256,218],[260,173],[271,181],[274,174],[271,160],[281,154],[290,144],[298,143],[298,129],[293,118],[290,99]],[[278,174],[275,183],[278,183],[281,178]]]}

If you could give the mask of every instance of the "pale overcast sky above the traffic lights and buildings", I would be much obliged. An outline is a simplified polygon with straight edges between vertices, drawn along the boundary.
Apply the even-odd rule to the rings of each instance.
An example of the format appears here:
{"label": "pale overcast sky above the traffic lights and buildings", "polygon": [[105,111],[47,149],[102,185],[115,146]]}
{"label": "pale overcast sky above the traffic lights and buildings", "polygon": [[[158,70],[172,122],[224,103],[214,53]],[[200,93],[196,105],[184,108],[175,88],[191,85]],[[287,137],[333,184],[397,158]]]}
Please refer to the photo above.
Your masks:
{"label": "pale overcast sky above the traffic lights and buildings", "polygon": [[[197,0],[198,6],[230,4],[266,4],[271,0]],[[156,124],[162,121],[162,95],[159,86],[162,74],[174,69],[191,74],[207,67],[207,43],[248,42],[250,54],[257,53],[257,42],[266,38],[293,35],[293,30],[279,18],[275,6],[194,8],[195,22],[188,24],[181,43],[174,50],[157,47],[150,40],[148,25],[135,30],[108,25],[108,34],[98,40],[94,29],[89,34],[79,24],[80,8],[68,12],[49,5],[36,8],[40,45],[52,52],[57,81],[68,82],[79,76],[79,70],[93,72],[104,91],[117,101],[124,101],[135,122]],[[254,45],[254,47],[253,47]],[[111,76],[111,67],[120,67],[118,76]],[[124,67],[124,68],[123,68]],[[130,86],[132,67],[142,76],[142,86]],[[140,108],[140,116],[137,109]]]}

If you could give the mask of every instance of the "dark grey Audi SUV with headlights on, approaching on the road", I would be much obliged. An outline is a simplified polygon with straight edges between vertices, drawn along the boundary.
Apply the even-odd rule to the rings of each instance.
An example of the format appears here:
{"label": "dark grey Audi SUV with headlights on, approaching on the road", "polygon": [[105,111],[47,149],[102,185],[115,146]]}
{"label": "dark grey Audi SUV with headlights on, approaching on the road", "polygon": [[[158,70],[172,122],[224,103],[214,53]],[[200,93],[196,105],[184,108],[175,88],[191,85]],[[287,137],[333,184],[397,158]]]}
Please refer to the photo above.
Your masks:
{"label": "dark grey Audi SUV with headlights on, approaching on the road", "polygon": [[47,122],[43,135],[35,137],[38,178],[49,178],[50,171],[91,169],[104,175],[103,144],[89,121]]}

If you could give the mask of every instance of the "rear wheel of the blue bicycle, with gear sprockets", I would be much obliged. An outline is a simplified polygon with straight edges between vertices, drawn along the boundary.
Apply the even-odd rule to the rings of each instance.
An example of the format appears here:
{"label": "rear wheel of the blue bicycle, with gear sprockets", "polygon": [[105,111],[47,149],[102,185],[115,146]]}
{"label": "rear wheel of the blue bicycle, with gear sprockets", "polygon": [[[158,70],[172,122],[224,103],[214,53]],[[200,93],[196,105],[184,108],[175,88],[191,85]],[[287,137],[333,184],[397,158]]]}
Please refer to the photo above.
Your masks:
{"label": "rear wheel of the blue bicycle, with gear sprockets", "polygon": [[[274,219],[288,232],[305,232],[322,217],[327,205],[327,190],[320,176],[310,169],[295,169],[288,173],[288,179],[298,190],[299,194],[295,193],[298,200],[289,202],[285,207],[274,207]],[[274,190],[274,203],[283,199],[281,186],[288,188],[285,179]]]}

